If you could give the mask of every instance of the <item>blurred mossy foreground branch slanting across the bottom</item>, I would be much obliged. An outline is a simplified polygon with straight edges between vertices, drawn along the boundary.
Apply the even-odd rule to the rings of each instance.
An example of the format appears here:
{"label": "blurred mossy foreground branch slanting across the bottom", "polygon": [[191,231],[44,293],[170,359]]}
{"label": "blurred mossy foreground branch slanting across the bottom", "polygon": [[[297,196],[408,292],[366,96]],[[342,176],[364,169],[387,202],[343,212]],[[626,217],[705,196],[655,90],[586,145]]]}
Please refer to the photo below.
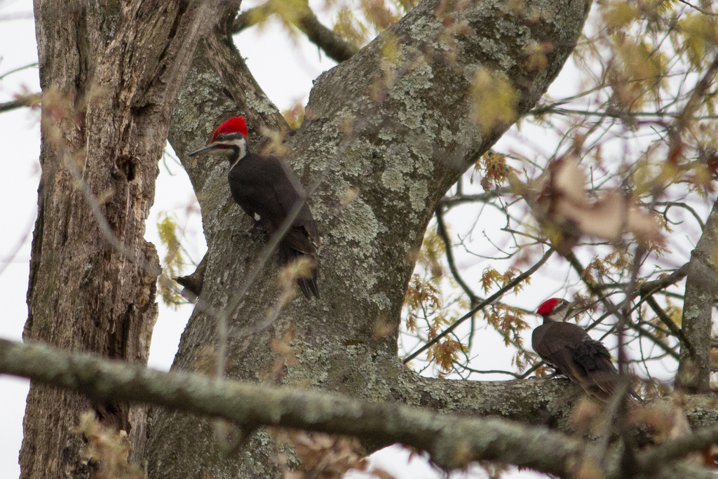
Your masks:
{"label": "blurred mossy foreground branch slanting across the bottom", "polygon": [[[0,372],[73,389],[101,401],[157,404],[223,417],[251,429],[271,425],[348,434],[385,444],[401,442],[429,452],[432,460],[447,470],[465,467],[475,460],[498,460],[569,477],[586,446],[567,434],[504,419],[436,414],[314,390],[219,381],[198,373],[162,373],[86,353],[67,353],[46,345],[9,340],[0,340]],[[714,429],[717,428],[696,437],[703,441],[704,436],[712,438],[717,434]],[[690,442],[678,455],[696,444]],[[615,478],[620,471],[617,455],[613,455],[612,462],[607,467],[607,477]],[[639,464],[656,469],[655,462]],[[682,465],[666,465],[656,472],[656,477],[661,478],[676,473],[684,478],[710,477],[707,470]]]}

